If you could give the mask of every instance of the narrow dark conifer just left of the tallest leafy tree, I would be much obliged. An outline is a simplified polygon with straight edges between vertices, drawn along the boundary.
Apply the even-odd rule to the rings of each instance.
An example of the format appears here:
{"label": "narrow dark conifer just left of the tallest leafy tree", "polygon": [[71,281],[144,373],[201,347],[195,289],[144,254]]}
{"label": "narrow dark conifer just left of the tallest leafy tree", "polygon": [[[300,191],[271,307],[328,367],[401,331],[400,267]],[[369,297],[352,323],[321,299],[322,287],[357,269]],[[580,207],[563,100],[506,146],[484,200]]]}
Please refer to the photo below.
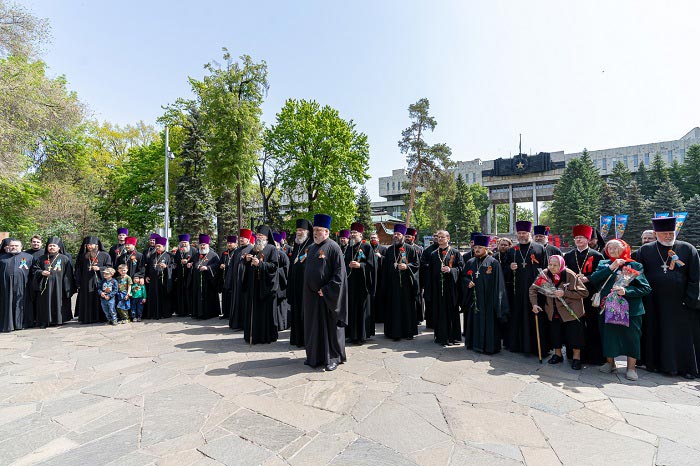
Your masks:
{"label": "narrow dark conifer just left of the tallest leafy tree", "polygon": [[188,109],[184,129],[185,141],[178,157],[184,171],[175,188],[174,225],[179,233],[211,233],[214,198],[204,183],[206,143],[200,112],[195,106]]}

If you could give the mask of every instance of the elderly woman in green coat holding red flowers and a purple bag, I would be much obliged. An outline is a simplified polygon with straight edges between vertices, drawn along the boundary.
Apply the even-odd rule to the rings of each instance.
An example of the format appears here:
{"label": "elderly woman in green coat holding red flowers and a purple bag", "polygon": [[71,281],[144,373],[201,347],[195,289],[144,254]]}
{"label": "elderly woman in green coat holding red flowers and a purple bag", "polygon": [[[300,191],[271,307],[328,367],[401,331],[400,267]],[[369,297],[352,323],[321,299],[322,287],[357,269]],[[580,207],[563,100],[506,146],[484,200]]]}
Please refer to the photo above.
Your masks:
{"label": "elderly woman in green coat holding red flowers and a purple bag", "polygon": [[[635,366],[640,355],[642,315],[644,315],[642,297],[651,293],[651,286],[644,276],[642,264],[632,260],[627,243],[619,239],[610,240],[603,252],[609,259],[600,261],[598,268],[590,277],[591,283],[601,286],[601,312],[598,323],[603,342],[603,355],[607,362],[600,366],[600,371],[607,374],[617,370],[615,358],[625,355],[627,356],[625,377],[635,381],[638,379]],[[627,276],[628,280],[632,278],[628,284],[623,282],[624,276]],[[618,300],[615,295],[623,299]],[[618,315],[628,314],[623,316],[623,319],[612,318],[615,302],[622,304],[614,309]],[[610,312],[606,312],[608,306]]]}

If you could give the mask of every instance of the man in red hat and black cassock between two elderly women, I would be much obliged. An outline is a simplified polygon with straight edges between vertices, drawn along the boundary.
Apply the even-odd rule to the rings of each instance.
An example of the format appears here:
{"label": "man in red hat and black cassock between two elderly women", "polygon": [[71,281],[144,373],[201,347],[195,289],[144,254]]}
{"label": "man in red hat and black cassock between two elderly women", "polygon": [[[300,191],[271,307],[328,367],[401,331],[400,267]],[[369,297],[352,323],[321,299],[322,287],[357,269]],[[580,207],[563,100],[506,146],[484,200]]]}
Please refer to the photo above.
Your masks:
{"label": "man in red hat and black cassock between two elderly women", "polygon": [[[581,279],[586,289],[588,297],[583,298],[583,310],[585,314],[581,317],[584,326],[584,341],[586,345],[581,349],[581,362],[599,366],[605,363],[603,356],[603,342],[600,339],[600,326],[598,325],[598,314],[600,308],[595,308],[591,304],[591,299],[598,292],[598,287],[589,281],[593,272],[598,269],[598,262],[604,259],[603,255],[588,246],[588,240],[593,236],[593,228],[588,225],[576,225],[573,228],[572,236],[574,245],[571,251],[564,254],[566,268],[573,271]],[[567,357],[569,348],[566,349]]]}

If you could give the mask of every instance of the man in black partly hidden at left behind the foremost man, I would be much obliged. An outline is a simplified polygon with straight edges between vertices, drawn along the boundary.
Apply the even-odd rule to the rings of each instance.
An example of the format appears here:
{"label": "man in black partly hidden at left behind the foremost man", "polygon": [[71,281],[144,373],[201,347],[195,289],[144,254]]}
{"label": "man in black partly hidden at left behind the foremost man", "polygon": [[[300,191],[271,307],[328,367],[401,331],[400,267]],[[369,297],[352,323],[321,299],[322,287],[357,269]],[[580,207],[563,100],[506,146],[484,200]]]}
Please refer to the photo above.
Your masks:
{"label": "man in black partly hidden at left behind the foremost man", "polygon": [[287,302],[290,308],[289,344],[304,347],[304,269],[309,247],[313,244],[313,226],[304,218],[297,219],[294,247],[287,253],[289,277],[287,280]]}

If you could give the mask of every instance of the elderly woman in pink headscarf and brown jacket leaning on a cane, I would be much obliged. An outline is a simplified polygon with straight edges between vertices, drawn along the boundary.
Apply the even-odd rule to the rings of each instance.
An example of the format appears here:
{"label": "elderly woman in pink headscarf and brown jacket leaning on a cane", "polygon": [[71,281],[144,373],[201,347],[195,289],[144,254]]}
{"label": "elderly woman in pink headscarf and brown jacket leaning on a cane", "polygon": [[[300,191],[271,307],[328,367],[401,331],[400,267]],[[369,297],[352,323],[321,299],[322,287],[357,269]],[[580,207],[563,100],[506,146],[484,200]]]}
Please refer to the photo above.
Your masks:
{"label": "elderly woman in pink headscarf and brown jacket leaning on a cane", "polygon": [[[546,284],[545,284],[546,282]],[[549,286],[548,286],[549,285]],[[551,288],[554,285],[554,296],[538,293],[543,286]],[[584,328],[581,317],[584,314],[583,298],[588,296],[586,285],[572,270],[566,268],[564,258],[553,255],[549,258],[547,269],[543,270],[537,280],[530,286],[530,304],[532,312],[544,312],[550,322],[550,337],[554,354],[549,358],[549,364],[559,364],[564,361],[561,348],[573,350],[571,368],[581,370],[581,348],[584,345]]]}

